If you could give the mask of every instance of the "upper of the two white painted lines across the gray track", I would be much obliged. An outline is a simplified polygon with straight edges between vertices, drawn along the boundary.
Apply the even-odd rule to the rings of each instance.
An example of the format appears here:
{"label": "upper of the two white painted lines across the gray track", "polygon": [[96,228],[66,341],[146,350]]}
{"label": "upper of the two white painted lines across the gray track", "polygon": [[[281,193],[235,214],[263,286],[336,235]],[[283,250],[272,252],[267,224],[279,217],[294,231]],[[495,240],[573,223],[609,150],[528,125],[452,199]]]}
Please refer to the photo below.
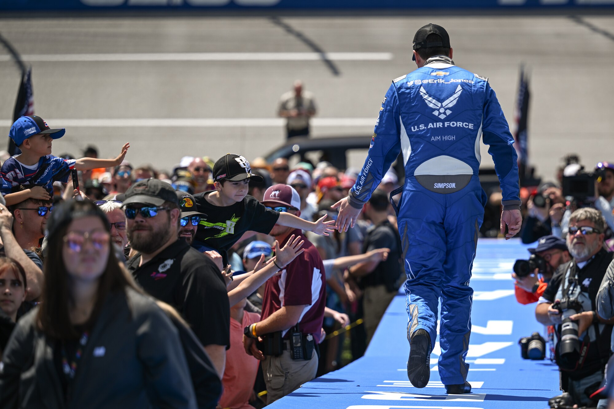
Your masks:
{"label": "upper of the two white painted lines across the gray track", "polygon": [[[114,61],[388,61],[392,53],[330,52],[330,53],[108,53],[108,54],[25,54],[24,61],[44,62],[114,62]],[[7,54],[0,61],[10,61]]]}

